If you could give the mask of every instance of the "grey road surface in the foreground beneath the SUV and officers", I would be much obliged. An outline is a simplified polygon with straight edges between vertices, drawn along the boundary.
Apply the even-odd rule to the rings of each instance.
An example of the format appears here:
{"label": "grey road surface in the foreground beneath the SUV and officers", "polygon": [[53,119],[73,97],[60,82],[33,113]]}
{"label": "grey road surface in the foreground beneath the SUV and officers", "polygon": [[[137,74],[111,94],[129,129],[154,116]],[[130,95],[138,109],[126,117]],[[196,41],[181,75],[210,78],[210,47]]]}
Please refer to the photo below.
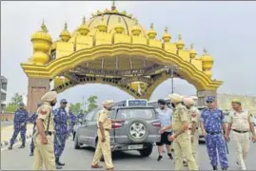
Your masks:
{"label": "grey road surface in the foreground beneath the SUV and officers", "polygon": [[[1,149],[1,169],[3,170],[30,170],[33,164],[33,157],[29,156],[30,148],[29,144],[25,149],[18,149],[17,146],[9,151],[5,148]],[[238,167],[235,163],[236,153],[235,146],[232,142],[229,144],[229,170],[237,170]],[[256,143],[251,143],[251,148],[247,159],[247,169],[255,169],[255,153]],[[200,144],[200,169],[210,170],[212,169],[208,158],[206,145]],[[231,154],[231,155],[230,155]],[[164,161],[159,163],[156,161],[157,149],[154,148],[152,155],[148,158],[141,158],[139,154],[134,152],[124,152],[113,155],[113,163],[116,170],[174,170],[174,162],[170,161],[167,156],[164,157]],[[93,149],[84,147],[79,150],[73,148],[73,142],[68,140],[66,148],[61,158],[61,161],[66,162],[65,170],[91,170],[90,163],[93,158]],[[104,166],[105,164],[102,163]],[[98,169],[96,169],[98,170]]]}

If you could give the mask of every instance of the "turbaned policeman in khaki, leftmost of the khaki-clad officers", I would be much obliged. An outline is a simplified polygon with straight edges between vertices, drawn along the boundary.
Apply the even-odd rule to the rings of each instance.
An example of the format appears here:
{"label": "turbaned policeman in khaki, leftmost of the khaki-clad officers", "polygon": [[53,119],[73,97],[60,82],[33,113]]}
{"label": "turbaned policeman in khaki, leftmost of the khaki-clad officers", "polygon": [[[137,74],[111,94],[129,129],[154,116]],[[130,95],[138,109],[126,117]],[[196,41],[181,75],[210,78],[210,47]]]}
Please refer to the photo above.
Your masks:
{"label": "turbaned policeman in khaki, leftmost of the khaki-clad officers", "polygon": [[36,132],[34,135],[34,170],[42,170],[43,163],[47,170],[55,170],[53,149],[54,123],[52,107],[57,100],[56,91],[49,91],[42,98],[43,104],[37,109]]}

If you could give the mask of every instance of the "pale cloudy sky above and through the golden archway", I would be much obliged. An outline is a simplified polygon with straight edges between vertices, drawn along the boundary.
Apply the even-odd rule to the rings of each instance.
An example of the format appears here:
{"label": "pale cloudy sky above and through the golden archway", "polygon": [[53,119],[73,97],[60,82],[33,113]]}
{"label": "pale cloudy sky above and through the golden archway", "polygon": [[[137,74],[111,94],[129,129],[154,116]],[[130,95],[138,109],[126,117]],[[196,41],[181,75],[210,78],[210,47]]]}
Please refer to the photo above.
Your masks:
{"label": "pale cloudy sky above and through the golden archway", "polygon": [[[20,63],[32,55],[30,36],[40,29],[43,19],[56,40],[66,21],[72,32],[84,15],[89,18],[92,12],[110,7],[111,1],[1,2],[1,75],[9,81],[8,100],[15,92],[28,93],[28,78]],[[187,47],[194,43],[200,55],[207,47],[214,58],[212,79],[224,81],[218,93],[256,95],[256,2],[117,1],[116,7],[132,13],[144,28],[153,23],[159,36],[168,27],[172,42],[182,34]],[[174,79],[174,86],[176,93],[196,94],[185,80]],[[165,98],[170,92],[171,82],[167,80],[151,99]],[[116,87],[99,84],[71,87],[58,98],[75,103],[90,95],[98,96],[98,103],[131,98]]]}

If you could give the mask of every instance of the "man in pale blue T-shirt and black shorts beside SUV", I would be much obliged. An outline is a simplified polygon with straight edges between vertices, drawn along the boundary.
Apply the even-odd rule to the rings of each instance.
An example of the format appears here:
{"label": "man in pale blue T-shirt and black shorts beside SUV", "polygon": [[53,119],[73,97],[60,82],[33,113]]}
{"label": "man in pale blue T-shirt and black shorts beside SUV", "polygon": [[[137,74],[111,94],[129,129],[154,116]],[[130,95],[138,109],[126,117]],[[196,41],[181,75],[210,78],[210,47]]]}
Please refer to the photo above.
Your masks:
{"label": "man in pale blue T-shirt and black shorts beside SUV", "polygon": [[[167,103],[164,99],[159,99],[158,100],[158,105],[159,108],[157,108],[157,113],[158,113],[158,119],[161,123],[162,127],[166,127],[171,123],[171,114],[172,111],[167,107]],[[156,142],[156,145],[158,146],[158,159],[157,161],[162,161],[163,160],[163,153],[164,153],[164,144],[167,147],[167,155],[170,160],[173,160],[173,157],[171,155],[171,149],[170,149],[170,144],[171,142],[168,141],[168,136],[171,135],[171,130],[168,129],[166,132],[161,134],[161,141]]]}

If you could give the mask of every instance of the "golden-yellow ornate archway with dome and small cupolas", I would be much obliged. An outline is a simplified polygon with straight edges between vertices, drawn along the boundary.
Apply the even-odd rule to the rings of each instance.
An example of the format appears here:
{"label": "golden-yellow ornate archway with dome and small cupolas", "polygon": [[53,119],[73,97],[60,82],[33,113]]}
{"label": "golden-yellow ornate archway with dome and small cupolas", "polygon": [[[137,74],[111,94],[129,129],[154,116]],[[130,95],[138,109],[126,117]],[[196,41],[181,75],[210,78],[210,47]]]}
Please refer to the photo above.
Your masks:
{"label": "golden-yellow ornate archway with dome and small cupolas", "polygon": [[[175,76],[196,87],[199,104],[204,104],[207,95],[216,96],[222,82],[211,79],[213,59],[207,50],[199,57],[192,45],[184,48],[181,35],[171,43],[167,28],[163,41],[156,36],[153,24],[146,31],[132,15],[115,7],[98,10],[89,21],[84,18],[72,34],[65,24],[60,40],[54,42],[43,23],[31,37],[32,57],[21,64],[29,77],[29,111],[49,91],[50,81],[57,92],[100,83],[117,86],[134,98],[148,99],[157,85]],[[171,70],[173,65],[179,69]]]}

